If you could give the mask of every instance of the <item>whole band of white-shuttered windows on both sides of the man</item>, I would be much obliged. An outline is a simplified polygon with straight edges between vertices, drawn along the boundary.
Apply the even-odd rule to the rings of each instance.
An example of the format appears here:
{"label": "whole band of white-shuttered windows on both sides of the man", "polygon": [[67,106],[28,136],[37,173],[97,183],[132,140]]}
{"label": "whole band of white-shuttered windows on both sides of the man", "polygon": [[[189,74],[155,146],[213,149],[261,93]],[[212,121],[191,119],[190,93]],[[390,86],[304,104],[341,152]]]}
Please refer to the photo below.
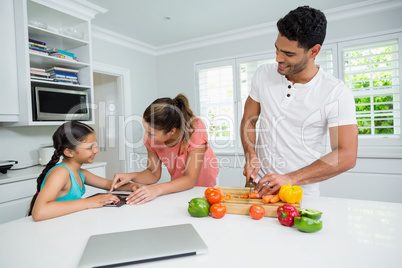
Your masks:
{"label": "whole band of white-shuttered windows on both sides of the man", "polygon": [[[316,63],[342,79],[354,96],[359,143],[401,144],[400,34],[325,44]],[[199,114],[217,148],[241,148],[239,128],[251,80],[275,53],[197,64]],[[384,139],[386,138],[386,139]]]}

